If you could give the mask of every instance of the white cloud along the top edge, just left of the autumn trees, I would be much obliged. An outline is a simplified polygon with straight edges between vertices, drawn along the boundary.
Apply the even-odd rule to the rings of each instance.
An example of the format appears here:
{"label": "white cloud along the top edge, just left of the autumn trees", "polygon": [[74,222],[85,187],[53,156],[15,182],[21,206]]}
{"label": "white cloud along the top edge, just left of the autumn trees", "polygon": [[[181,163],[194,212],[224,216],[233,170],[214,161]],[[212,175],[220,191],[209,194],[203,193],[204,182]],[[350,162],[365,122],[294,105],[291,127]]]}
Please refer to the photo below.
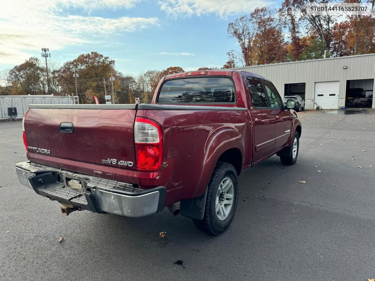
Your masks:
{"label": "white cloud along the top edge, just left of the autumn trees", "polygon": [[219,16],[249,13],[256,7],[273,4],[273,0],[163,0],[160,9],[174,16],[207,15]]}

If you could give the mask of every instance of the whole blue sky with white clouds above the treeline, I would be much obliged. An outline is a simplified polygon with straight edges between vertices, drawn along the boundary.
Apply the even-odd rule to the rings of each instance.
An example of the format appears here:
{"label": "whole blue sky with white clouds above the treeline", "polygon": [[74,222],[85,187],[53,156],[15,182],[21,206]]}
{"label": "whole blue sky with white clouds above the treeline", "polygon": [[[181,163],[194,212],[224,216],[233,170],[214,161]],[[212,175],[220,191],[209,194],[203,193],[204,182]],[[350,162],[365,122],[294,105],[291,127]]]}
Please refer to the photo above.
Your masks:
{"label": "whole blue sky with white clouds above the treeline", "polygon": [[17,8],[4,3],[11,12],[0,14],[0,69],[30,55],[40,58],[40,48],[46,47],[61,63],[98,51],[133,75],[169,66],[220,67],[226,52],[237,49],[227,38],[228,23],[257,6],[279,5],[267,0],[19,1]]}

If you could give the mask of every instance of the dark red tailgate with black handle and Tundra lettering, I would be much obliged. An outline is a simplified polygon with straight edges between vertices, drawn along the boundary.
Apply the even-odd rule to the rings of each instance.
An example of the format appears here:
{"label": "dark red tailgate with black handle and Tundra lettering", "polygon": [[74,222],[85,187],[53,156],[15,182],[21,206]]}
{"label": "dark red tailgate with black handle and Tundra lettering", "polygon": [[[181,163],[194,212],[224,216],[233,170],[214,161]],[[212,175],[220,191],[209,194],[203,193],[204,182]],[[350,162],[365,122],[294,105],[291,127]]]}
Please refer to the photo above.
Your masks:
{"label": "dark red tailgate with black handle and Tundra lettering", "polygon": [[61,159],[135,170],[135,114],[135,105],[30,105],[28,158],[63,169]]}

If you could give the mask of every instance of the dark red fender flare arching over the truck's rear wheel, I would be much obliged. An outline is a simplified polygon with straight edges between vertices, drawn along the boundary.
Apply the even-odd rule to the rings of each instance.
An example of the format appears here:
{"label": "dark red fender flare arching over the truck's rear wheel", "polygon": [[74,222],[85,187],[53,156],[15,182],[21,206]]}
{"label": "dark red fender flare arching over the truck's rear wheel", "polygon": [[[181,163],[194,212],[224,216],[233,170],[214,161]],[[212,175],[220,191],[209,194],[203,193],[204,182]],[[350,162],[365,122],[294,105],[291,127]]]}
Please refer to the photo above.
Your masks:
{"label": "dark red fender flare arching over the truck's rear wheel", "polygon": [[216,132],[208,141],[202,161],[201,171],[192,197],[199,197],[205,193],[210,182],[214,167],[220,156],[231,148],[237,148],[241,152],[243,167],[245,155],[245,143],[242,135],[235,129],[223,129]]}

